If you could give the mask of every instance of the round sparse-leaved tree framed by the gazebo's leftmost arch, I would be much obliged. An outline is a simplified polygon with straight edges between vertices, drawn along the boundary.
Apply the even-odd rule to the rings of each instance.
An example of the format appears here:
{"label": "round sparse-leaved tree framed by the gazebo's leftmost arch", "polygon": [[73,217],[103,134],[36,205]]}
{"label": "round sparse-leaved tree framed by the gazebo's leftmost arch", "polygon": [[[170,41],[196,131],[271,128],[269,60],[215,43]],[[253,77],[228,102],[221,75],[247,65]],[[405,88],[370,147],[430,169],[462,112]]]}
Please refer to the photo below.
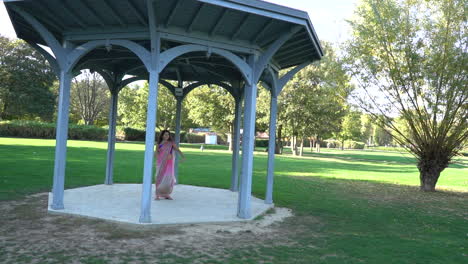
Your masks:
{"label": "round sparse-leaved tree framed by the gazebo's leftmost arch", "polygon": [[97,72],[84,71],[73,79],[70,106],[71,112],[80,116],[85,125],[94,125],[98,118],[107,118],[109,89]]}

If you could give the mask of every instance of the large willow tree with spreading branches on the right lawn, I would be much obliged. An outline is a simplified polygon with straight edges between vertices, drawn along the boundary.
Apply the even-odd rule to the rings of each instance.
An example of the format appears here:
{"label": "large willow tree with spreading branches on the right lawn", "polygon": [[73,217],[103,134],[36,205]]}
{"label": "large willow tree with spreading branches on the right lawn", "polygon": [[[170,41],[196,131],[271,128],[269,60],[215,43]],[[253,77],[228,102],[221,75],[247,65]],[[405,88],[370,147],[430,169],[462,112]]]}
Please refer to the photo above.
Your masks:
{"label": "large willow tree with spreading branches on the right lawn", "polygon": [[465,12],[462,0],[363,0],[350,21],[358,101],[416,156],[423,191],[435,190],[468,138]]}

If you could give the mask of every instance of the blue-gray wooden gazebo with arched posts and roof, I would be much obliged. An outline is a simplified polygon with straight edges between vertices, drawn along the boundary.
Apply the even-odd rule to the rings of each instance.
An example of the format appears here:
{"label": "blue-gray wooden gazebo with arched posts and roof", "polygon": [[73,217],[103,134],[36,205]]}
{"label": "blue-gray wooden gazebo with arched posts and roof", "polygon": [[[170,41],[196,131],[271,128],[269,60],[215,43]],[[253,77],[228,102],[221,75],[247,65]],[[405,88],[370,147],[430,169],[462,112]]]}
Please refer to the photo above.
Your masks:
{"label": "blue-gray wooden gazebo with arched posts and roof", "polygon": [[[306,12],[259,0],[3,2],[18,38],[43,54],[60,80],[52,209],[61,210],[66,206],[64,179],[70,85],[73,76],[82,69],[101,74],[112,95],[105,176],[108,185],[113,183],[119,91],[133,81],[149,81],[141,223],[151,222],[158,83],[166,86],[177,100],[177,144],[182,101],[190,91],[213,84],[225,88],[234,97],[230,190],[239,193],[237,216],[251,217],[257,84],[262,82],[271,92],[265,203],[273,203],[277,97],[294,74],[323,56]],[[280,76],[283,69],[288,71]],[[176,81],[178,85],[168,81]],[[242,113],[243,155],[239,179]]]}

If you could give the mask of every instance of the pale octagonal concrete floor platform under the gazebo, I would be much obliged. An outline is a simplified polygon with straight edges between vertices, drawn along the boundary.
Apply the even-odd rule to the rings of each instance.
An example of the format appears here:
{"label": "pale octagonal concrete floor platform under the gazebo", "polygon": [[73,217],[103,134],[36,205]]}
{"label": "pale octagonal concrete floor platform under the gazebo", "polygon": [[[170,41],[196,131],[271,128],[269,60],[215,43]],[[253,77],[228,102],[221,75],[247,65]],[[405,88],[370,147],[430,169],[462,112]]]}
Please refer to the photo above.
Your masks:
{"label": "pale octagonal concrete floor platform under the gazebo", "polygon": [[[140,224],[141,184],[95,185],[65,190],[64,210],[51,213],[80,215],[104,220]],[[154,191],[154,186],[152,188]],[[176,185],[174,200],[151,202],[151,224],[189,224],[246,221],[237,217],[238,193],[225,189]],[[252,196],[252,220],[273,205]],[[144,224],[144,225],[151,225]]]}

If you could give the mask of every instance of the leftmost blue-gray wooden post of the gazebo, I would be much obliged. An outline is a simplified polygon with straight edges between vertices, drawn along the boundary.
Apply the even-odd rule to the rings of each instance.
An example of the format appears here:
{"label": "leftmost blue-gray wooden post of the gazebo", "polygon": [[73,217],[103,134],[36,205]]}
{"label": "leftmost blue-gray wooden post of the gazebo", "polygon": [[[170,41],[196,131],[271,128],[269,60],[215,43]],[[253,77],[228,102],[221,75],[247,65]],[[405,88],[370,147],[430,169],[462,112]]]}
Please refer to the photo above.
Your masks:
{"label": "leftmost blue-gray wooden post of the gazebo", "polygon": [[57,131],[55,144],[54,182],[52,187],[52,209],[64,209],[65,166],[67,162],[68,113],[70,107],[70,86],[72,75],[60,72],[60,93],[58,102]]}

